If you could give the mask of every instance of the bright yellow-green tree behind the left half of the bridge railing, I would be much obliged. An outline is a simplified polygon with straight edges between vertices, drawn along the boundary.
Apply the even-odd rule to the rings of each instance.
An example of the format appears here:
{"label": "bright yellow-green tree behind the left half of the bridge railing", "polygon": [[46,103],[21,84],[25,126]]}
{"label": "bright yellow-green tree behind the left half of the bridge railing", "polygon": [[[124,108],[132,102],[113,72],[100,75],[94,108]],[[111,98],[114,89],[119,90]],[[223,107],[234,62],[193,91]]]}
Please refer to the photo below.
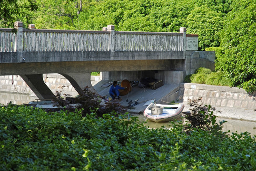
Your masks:
{"label": "bright yellow-green tree behind the left half of the bridge railing", "polygon": [[[80,15],[93,6],[92,0],[39,0],[39,12],[35,14],[37,28],[45,29],[82,29]],[[82,19],[87,19],[82,17]]]}

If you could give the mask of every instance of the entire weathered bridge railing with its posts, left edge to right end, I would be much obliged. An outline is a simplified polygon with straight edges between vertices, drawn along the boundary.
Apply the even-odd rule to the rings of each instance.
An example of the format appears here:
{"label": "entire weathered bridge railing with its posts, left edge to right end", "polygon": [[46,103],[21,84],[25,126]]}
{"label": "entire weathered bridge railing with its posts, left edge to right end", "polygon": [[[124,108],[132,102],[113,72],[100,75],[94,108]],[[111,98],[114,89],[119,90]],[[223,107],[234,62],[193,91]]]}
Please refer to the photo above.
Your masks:
{"label": "entire weathered bridge railing with its posts, left edge to right end", "polygon": [[[48,30],[0,28],[0,52],[55,51],[184,51],[185,32],[129,32],[115,31],[113,25],[103,31]],[[184,41],[185,40],[185,41]]]}

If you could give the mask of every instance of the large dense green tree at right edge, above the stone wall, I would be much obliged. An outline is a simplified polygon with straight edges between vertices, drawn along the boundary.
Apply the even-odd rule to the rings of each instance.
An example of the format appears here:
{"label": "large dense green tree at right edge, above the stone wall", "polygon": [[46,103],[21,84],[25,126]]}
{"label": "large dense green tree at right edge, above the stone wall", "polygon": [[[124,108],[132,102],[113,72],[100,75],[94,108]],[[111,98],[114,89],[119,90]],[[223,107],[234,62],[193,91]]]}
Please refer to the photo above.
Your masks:
{"label": "large dense green tree at right edge, above the stone wall", "polygon": [[[244,4],[244,3],[242,3]],[[217,57],[216,68],[225,72],[236,86],[256,91],[256,2],[245,2],[227,16],[221,31],[224,54]]]}

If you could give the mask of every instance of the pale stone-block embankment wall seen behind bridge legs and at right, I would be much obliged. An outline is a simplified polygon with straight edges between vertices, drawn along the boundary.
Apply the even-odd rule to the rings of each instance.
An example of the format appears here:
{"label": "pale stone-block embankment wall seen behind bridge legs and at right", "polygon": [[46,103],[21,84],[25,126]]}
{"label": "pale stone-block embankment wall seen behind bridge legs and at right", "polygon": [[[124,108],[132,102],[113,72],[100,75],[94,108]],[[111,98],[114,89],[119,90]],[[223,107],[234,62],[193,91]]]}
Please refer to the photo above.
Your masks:
{"label": "pale stone-block embankment wall seen behind bridge legs and at right", "polygon": [[[64,76],[44,74],[43,79],[54,94],[56,91],[62,91],[62,95],[78,95]],[[91,76],[92,85],[97,83],[98,80],[101,80],[101,77]],[[177,96],[177,99],[184,103],[187,103],[188,99],[193,100],[202,97],[204,104],[210,104],[213,107],[256,109],[256,95],[249,95],[245,90],[236,87],[182,83],[179,90],[177,88],[173,91],[176,92],[174,96]],[[0,92],[35,96],[20,76],[0,76]],[[175,99],[174,96],[172,95],[168,99]]]}

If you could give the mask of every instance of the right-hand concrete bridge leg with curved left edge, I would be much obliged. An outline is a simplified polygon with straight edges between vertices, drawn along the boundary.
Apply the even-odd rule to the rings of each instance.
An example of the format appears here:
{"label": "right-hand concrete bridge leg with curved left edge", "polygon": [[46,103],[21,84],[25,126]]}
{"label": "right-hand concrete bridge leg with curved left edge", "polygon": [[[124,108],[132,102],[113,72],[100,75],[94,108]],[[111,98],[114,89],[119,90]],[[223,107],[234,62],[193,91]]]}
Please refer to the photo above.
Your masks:
{"label": "right-hand concrete bridge leg with curved left edge", "polygon": [[59,73],[62,76],[65,76],[71,85],[76,89],[78,94],[83,93],[83,89],[86,86],[89,86],[93,92],[96,90],[91,85],[91,73]]}

